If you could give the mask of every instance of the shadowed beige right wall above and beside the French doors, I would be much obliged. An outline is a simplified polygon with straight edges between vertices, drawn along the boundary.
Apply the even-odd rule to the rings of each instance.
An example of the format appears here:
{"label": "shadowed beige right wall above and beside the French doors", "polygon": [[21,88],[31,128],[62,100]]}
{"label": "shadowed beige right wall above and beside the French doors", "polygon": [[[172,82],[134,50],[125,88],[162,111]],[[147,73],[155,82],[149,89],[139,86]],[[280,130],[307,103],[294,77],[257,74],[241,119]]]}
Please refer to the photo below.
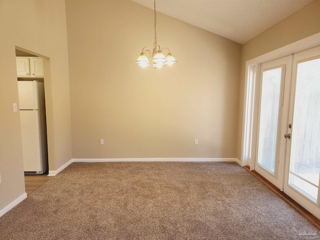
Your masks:
{"label": "shadowed beige right wall above and beside the French doors", "polygon": [[320,32],[320,0],[312,1],[242,45],[236,151],[238,159],[241,157],[245,62],[317,32]]}

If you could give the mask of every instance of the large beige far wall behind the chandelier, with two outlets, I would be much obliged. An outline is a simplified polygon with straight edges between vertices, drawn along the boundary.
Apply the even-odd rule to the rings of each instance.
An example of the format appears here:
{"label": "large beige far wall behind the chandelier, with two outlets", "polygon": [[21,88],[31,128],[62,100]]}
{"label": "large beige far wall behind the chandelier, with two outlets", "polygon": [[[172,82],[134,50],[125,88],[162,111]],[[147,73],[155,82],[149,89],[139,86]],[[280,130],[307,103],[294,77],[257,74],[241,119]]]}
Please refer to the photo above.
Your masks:
{"label": "large beige far wall behind the chandelier, with two outlets", "polygon": [[66,19],[73,158],[236,156],[240,44],[157,13],[178,63],[154,70],[135,64],[152,9],[67,0]]}

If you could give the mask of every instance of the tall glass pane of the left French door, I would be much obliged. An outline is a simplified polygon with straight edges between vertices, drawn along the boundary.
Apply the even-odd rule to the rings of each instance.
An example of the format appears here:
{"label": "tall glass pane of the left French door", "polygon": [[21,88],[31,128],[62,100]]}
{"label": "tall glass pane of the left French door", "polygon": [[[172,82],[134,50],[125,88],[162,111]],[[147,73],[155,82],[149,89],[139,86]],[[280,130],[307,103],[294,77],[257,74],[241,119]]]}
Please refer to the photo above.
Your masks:
{"label": "tall glass pane of the left French door", "polygon": [[281,67],[262,72],[258,164],[274,173]]}

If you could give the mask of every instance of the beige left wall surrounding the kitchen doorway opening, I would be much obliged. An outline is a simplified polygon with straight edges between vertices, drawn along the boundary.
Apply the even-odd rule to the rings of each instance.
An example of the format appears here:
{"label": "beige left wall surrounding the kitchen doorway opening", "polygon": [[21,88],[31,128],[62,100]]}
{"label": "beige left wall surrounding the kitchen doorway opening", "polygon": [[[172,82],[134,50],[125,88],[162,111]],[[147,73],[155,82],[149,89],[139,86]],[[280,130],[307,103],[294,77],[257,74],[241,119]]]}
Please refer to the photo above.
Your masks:
{"label": "beige left wall surrounding the kitchen doorway opening", "polygon": [[46,56],[49,168],[71,158],[69,75],[63,0],[0,0],[0,210],[23,194],[24,178],[15,46]]}

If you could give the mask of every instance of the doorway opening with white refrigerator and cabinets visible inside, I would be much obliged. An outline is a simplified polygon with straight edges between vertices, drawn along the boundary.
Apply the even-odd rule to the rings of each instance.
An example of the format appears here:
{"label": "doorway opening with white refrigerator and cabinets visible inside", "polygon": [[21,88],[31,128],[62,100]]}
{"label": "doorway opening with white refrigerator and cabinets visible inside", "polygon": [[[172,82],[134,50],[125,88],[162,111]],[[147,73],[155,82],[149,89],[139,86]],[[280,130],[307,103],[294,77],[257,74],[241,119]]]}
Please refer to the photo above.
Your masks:
{"label": "doorway opening with white refrigerator and cabinets visible inside", "polygon": [[24,174],[47,174],[43,59],[15,49]]}

